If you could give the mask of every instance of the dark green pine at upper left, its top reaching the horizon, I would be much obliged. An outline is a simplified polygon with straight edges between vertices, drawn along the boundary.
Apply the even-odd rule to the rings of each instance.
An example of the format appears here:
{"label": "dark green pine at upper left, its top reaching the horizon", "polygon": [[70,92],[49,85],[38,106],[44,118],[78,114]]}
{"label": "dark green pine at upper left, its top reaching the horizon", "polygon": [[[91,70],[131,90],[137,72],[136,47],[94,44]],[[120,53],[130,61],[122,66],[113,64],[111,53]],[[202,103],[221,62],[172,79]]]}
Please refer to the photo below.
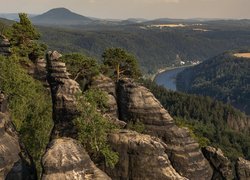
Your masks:
{"label": "dark green pine at upper left, its top reaching the horizon", "polygon": [[39,44],[40,34],[36,31],[27,14],[19,14],[20,22],[16,22],[7,31],[7,37],[12,45],[11,51],[19,57],[36,60],[43,55],[46,45]]}

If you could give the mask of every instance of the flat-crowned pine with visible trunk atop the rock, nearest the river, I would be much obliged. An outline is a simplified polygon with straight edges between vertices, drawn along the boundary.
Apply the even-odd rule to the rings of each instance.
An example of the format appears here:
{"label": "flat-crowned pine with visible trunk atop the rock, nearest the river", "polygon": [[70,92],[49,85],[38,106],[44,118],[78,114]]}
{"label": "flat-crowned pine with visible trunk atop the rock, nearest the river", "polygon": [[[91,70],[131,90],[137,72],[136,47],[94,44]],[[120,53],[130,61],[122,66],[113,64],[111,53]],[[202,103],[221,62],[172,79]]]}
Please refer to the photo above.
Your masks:
{"label": "flat-crowned pine with visible trunk atop the rock, nearest the river", "polygon": [[103,64],[116,80],[122,77],[139,78],[141,72],[136,58],[121,48],[109,48],[102,54]]}

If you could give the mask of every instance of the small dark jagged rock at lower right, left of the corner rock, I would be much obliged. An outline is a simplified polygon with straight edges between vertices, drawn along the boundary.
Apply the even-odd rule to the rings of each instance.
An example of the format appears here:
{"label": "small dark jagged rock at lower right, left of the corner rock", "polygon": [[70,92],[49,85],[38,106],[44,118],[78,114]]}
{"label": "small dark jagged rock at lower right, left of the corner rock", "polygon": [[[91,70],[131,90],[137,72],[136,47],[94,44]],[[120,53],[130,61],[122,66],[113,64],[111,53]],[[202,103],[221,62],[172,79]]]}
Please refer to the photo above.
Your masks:
{"label": "small dark jagged rock at lower right, left of the corner rock", "polygon": [[214,147],[203,148],[203,154],[210,162],[214,169],[214,174],[212,179],[234,179],[232,164],[230,160],[224,156],[221,149],[216,149]]}

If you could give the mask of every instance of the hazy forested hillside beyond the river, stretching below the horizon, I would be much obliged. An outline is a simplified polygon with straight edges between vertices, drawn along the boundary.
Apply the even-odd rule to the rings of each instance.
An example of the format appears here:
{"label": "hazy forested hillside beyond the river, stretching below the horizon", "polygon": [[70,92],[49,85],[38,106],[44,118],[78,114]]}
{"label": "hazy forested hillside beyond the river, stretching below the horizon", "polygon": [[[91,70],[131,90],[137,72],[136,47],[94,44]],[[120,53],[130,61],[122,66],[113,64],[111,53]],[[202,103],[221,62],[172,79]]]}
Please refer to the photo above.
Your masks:
{"label": "hazy forested hillside beyond the river, stretching below the horizon", "polygon": [[[155,22],[154,22],[155,23]],[[101,59],[106,48],[121,47],[139,60],[146,73],[183,61],[206,60],[226,50],[249,47],[249,25],[207,22],[184,28],[150,28],[147,24],[117,26],[39,27],[50,49],[83,52]],[[240,24],[240,23],[238,23]],[[194,30],[195,28],[208,31]]]}

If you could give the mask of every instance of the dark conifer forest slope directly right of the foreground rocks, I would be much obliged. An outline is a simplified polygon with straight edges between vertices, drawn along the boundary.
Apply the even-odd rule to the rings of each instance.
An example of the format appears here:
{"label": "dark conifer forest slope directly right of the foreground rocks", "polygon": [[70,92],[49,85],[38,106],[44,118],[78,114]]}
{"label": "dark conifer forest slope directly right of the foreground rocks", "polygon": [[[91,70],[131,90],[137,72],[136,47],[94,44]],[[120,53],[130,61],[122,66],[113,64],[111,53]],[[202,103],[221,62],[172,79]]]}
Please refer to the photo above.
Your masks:
{"label": "dark conifer forest slope directly right of the foreground rocks", "polygon": [[189,127],[201,146],[212,145],[235,160],[239,156],[250,159],[249,131],[237,132],[227,124],[229,116],[244,119],[246,115],[230,105],[209,97],[168,91],[154,82],[143,81],[180,126]]}

